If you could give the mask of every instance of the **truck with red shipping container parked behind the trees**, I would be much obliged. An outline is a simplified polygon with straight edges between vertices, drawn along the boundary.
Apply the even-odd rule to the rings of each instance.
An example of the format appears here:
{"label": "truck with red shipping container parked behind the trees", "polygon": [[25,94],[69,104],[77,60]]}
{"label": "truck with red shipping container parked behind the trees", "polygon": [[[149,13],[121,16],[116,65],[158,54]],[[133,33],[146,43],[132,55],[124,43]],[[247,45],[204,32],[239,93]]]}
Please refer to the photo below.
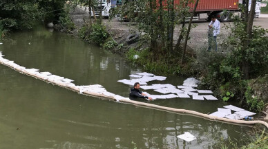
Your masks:
{"label": "truck with red shipping container parked behind the trees", "polygon": [[[231,19],[231,14],[233,14],[233,16],[242,16],[241,10],[238,6],[239,3],[242,3],[242,0],[200,0],[195,11],[195,16],[193,16],[193,20],[207,19],[209,21],[210,16],[214,15],[222,22],[229,21]],[[174,0],[174,4],[180,5],[180,0]],[[166,5],[166,3],[163,3],[163,5]],[[189,4],[190,12],[193,11],[194,5],[194,2]],[[250,8],[251,0],[249,0],[249,11]],[[257,1],[255,17],[258,18],[259,16],[260,1]],[[115,19],[117,19],[117,21],[121,21],[122,17],[120,14],[117,14]]]}

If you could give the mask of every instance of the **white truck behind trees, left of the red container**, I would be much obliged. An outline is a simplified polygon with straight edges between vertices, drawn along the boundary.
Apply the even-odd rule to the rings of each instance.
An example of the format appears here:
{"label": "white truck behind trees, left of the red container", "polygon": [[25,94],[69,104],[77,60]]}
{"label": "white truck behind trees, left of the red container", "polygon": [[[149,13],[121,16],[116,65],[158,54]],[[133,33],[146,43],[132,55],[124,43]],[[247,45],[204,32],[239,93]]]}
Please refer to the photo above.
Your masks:
{"label": "white truck behind trees, left of the red container", "polygon": [[[102,12],[102,16],[104,18],[108,18],[110,16],[110,12],[113,8],[116,7],[117,0],[98,0],[94,5],[94,11],[96,16],[100,16]],[[91,9],[93,10],[93,9]],[[93,16],[93,11],[90,12],[91,16]]]}

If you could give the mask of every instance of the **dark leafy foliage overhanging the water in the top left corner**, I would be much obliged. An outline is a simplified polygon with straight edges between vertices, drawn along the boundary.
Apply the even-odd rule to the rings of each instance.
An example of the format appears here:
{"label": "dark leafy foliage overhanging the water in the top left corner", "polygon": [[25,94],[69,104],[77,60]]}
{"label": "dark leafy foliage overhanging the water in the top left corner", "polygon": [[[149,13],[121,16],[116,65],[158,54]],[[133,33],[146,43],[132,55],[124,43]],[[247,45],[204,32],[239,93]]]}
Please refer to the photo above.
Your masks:
{"label": "dark leafy foliage overhanging the water in the top left corner", "polygon": [[31,29],[39,20],[71,28],[65,0],[1,0],[0,24],[6,30]]}

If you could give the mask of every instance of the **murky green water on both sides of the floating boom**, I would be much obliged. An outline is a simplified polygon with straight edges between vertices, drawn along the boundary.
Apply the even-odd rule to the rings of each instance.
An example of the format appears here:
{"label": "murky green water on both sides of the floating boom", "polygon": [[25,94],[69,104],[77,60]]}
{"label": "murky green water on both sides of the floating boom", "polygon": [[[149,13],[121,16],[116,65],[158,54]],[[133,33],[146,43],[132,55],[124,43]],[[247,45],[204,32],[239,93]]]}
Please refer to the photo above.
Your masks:
{"label": "murky green water on both sides of the floating boom", "polygon": [[[140,72],[124,58],[79,39],[44,29],[12,34],[0,51],[27,68],[49,71],[75,84],[102,84],[128,96],[129,86],[117,82]],[[180,85],[185,78],[163,82]],[[153,93],[151,91],[150,93]],[[162,106],[212,113],[220,101],[157,100]],[[249,137],[251,129],[188,115],[121,104],[79,95],[0,65],[0,148],[217,148],[220,140]],[[190,132],[190,143],[176,136]]]}

